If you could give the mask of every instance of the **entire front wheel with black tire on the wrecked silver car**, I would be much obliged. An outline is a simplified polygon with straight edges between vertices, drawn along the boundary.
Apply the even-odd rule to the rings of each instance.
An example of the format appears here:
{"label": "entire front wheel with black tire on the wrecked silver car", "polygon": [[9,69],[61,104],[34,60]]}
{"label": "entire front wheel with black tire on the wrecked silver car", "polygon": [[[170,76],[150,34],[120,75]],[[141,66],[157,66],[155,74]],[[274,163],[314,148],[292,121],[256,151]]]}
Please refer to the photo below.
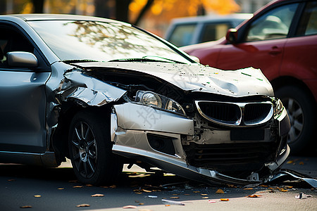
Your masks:
{"label": "entire front wheel with black tire on the wrecked silver car", "polygon": [[73,171],[83,184],[111,184],[122,171],[112,153],[110,127],[97,113],[81,111],[70,123],[68,148]]}

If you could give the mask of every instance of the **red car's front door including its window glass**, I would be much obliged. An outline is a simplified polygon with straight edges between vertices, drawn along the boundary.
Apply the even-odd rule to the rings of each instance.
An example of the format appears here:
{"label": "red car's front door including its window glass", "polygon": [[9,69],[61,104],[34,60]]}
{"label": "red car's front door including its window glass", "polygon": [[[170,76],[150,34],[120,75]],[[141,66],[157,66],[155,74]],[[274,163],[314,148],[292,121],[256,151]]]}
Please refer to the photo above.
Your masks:
{"label": "red car's front door including its window glass", "polygon": [[298,5],[275,7],[254,18],[247,27],[238,31],[244,34],[242,40],[237,44],[223,46],[216,67],[224,70],[261,67],[268,79],[276,77]]}

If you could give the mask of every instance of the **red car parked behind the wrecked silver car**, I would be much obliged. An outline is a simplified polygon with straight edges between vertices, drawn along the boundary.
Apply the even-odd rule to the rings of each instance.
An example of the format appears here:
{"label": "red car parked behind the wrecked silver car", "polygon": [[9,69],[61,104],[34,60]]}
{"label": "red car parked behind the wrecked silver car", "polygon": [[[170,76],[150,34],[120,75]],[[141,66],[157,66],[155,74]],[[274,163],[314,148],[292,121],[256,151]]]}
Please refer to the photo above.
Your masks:
{"label": "red car parked behind the wrecked silver car", "polygon": [[271,1],[225,38],[182,50],[223,70],[260,68],[290,115],[292,153],[316,144],[317,1]]}

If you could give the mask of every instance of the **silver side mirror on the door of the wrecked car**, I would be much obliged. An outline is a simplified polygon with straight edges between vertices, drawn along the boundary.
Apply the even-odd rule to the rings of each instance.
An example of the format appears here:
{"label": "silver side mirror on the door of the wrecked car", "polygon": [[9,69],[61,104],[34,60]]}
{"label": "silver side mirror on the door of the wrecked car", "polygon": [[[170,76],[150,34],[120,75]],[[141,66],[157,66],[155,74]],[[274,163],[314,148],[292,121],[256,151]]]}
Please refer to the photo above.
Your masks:
{"label": "silver side mirror on the door of the wrecked car", "polygon": [[8,52],[7,60],[10,67],[36,68],[39,65],[33,53],[24,51]]}

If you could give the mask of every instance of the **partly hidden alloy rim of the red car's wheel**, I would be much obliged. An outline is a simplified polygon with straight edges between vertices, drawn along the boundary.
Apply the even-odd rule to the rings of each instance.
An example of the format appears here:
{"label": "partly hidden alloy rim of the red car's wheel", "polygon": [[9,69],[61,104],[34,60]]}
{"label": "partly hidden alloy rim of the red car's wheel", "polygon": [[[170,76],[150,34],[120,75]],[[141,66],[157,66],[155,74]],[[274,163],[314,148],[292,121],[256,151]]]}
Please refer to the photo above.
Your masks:
{"label": "partly hidden alloy rim of the red car's wheel", "polygon": [[282,103],[290,117],[290,132],[287,136],[287,143],[294,143],[299,139],[304,129],[304,113],[302,106],[294,98],[284,98]]}

